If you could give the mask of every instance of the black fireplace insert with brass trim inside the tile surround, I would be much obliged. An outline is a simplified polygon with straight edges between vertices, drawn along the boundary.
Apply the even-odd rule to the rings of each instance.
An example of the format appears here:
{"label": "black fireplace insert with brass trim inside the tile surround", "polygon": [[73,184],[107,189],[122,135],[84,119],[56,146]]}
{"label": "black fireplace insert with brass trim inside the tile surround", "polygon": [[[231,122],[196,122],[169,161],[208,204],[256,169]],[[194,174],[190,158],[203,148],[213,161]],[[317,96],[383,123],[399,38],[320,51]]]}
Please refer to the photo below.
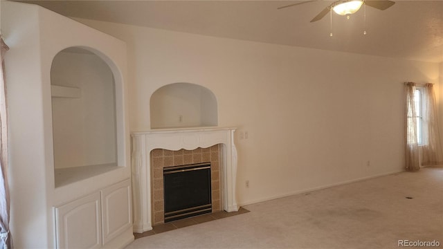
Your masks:
{"label": "black fireplace insert with brass trim inside the tile surround", "polygon": [[213,211],[210,163],[163,168],[165,222]]}

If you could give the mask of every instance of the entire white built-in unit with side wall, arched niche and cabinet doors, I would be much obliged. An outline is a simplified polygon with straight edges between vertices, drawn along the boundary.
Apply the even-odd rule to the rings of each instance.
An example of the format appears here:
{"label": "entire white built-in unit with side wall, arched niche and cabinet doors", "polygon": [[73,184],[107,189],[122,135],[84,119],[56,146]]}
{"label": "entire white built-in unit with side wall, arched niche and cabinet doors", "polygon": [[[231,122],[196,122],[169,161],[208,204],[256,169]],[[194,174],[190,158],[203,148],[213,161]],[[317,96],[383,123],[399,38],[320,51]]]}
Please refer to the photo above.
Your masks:
{"label": "entire white built-in unit with side wall, arched niche and cabinet doors", "polygon": [[134,241],[125,42],[15,1],[1,1],[1,30],[8,178],[26,190],[10,203],[15,248],[125,248]]}

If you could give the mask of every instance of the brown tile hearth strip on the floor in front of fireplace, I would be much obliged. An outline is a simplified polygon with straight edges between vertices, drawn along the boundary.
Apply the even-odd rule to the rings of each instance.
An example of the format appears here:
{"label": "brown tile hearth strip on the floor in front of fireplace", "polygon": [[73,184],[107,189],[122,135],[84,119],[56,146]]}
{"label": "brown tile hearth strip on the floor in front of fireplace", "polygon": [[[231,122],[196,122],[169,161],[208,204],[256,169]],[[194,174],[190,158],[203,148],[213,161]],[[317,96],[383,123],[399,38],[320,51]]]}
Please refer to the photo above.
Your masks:
{"label": "brown tile hearth strip on the floor in front of fireplace", "polygon": [[208,221],[215,221],[216,219],[224,219],[224,218],[227,218],[230,216],[244,214],[247,212],[249,212],[249,210],[246,210],[244,208],[239,208],[239,210],[237,212],[221,211],[221,212],[215,212],[215,213],[210,213],[210,214],[202,214],[202,215],[193,216],[193,217],[190,217],[187,219],[181,219],[178,221],[171,221],[171,222],[160,224],[160,225],[154,225],[152,227],[152,230],[150,230],[150,231],[143,232],[141,234],[134,233],[134,237],[135,237],[135,239],[140,239],[140,238],[151,236],[154,234],[159,234],[161,232],[168,232],[170,230],[185,228],[190,225],[197,225],[199,223],[204,223],[204,222],[208,222]]}

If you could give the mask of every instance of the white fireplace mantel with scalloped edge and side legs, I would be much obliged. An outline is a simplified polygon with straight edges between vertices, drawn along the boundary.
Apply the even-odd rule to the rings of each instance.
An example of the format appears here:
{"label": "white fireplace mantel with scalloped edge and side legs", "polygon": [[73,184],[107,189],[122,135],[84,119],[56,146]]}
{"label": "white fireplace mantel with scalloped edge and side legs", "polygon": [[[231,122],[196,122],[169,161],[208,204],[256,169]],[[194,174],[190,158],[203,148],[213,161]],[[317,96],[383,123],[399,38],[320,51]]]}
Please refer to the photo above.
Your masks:
{"label": "white fireplace mantel with scalloped edge and side legs", "polygon": [[186,129],[156,129],[133,132],[132,137],[132,196],[134,232],[152,230],[151,165],[152,149],[197,149],[221,146],[222,203],[226,212],[237,212],[235,181],[237,177],[237,149],[233,127]]}

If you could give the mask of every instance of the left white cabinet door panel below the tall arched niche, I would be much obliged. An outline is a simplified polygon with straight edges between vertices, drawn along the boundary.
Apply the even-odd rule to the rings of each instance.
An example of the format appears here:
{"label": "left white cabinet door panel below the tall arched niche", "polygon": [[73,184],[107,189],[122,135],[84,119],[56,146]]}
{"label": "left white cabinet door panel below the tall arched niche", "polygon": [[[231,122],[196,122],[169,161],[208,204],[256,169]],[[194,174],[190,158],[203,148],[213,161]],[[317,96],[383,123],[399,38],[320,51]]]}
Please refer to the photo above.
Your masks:
{"label": "left white cabinet door panel below the tall arched niche", "polygon": [[55,208],[57,248],[100,248],[100,192]]}

